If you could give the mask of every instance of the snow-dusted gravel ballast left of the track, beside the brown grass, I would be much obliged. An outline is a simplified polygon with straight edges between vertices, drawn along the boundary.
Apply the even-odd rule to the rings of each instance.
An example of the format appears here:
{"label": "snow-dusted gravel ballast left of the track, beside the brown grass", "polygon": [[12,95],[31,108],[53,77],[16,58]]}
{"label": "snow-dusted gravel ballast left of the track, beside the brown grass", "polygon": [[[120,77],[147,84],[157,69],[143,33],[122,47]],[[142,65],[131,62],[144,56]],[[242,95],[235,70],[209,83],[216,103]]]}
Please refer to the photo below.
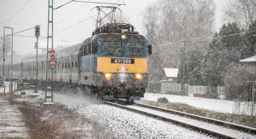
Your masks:
{"label": "snow-dusted gravel ballast left of the track, beside the brown grass", "polygon": [[[29,94],[29,91],[27,92]],[[120,138],[210,138],[172,123],[102,104],[102,101],[91,99],[83,94],[65,92],[67,93],[54,92],[55,103],[65,104],[88,118],[105,124]],[[36,98],[20,99],[33,101],[33,99],[44,98],[44,91],[38,90],[38,93],[42,95]]]}

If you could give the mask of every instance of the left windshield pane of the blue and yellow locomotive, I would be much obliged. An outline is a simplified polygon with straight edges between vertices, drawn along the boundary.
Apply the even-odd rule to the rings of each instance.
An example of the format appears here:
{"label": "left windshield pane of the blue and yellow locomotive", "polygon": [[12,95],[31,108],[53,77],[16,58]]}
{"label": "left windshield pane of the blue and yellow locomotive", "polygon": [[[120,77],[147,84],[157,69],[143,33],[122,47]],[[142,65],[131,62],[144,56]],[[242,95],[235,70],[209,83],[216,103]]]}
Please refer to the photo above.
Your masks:
{"label": "left windshield pane of the blue and yellow locomotive", "polygon": [[104,54],[121,54],[122,43],[121,42],[103,42],[102,53]]}

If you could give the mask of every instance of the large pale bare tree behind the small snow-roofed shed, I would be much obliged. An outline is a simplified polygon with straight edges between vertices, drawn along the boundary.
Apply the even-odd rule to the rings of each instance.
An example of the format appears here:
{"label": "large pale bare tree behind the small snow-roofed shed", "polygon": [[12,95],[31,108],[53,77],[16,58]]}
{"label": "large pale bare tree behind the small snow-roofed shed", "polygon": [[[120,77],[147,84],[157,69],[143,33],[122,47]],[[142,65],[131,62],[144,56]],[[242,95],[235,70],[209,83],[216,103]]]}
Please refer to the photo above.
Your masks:
{"label": "large pale bare tree behind the small snow-roofed shed", "polygon": [[[141,16],[146,38],[154,47],[152,57],[163,59],[157,68],[178,68],[184,48],[206,52],[208,40],[189,40],[212,36],[214,14],[213,0],[159,0],[148,5]],[[159,59],[151,60],[149,70]]]}

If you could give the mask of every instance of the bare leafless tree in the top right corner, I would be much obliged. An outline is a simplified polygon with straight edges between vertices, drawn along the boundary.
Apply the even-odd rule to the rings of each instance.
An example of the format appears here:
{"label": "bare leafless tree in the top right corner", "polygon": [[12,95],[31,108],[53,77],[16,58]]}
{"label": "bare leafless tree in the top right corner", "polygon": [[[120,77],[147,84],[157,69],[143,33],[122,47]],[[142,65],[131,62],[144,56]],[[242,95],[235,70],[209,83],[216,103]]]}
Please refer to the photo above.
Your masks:
{"label": "bare leafless tree in the top right corner", "polygon": [[240,28],[248,29],[256,17],[256,0],[230,0],[223,8],[223,21],[237,22]]}

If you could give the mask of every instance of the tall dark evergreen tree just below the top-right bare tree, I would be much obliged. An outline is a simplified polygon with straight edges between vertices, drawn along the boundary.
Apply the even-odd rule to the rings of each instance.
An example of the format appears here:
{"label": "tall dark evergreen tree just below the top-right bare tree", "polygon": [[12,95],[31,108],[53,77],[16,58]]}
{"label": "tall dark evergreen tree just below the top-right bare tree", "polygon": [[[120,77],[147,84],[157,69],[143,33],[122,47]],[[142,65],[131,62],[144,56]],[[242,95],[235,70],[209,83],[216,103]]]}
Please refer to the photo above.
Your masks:
{"label": "tall dark evergreen tree just below the top-right bare tree", "polygon": [[240,32],[233,22],[222,25],[219,33],[215,33],[204,61],[203,78],[207,85],[223,86],[228,66],[240,60],[243,46]]}

